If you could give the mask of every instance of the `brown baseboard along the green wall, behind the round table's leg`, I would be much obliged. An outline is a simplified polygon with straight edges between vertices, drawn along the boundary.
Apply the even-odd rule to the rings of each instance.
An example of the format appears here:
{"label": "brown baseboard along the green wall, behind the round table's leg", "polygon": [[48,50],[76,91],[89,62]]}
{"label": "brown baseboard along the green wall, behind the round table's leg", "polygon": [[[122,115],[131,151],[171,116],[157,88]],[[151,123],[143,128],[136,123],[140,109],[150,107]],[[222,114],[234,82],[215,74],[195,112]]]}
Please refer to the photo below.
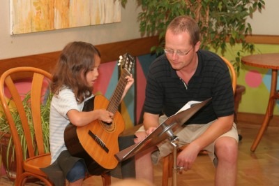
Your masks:
{"label": "brown baseboard along the green wall, behind the round table's leg", "polygon": [[[255,113],[237,113],[238,122],[247,122],[249,124],[258,124],[261,125],[264,121],[264,114],[255,114]],[[269,122],[269,126],[279,127],[279,116],[273,115]]]}

